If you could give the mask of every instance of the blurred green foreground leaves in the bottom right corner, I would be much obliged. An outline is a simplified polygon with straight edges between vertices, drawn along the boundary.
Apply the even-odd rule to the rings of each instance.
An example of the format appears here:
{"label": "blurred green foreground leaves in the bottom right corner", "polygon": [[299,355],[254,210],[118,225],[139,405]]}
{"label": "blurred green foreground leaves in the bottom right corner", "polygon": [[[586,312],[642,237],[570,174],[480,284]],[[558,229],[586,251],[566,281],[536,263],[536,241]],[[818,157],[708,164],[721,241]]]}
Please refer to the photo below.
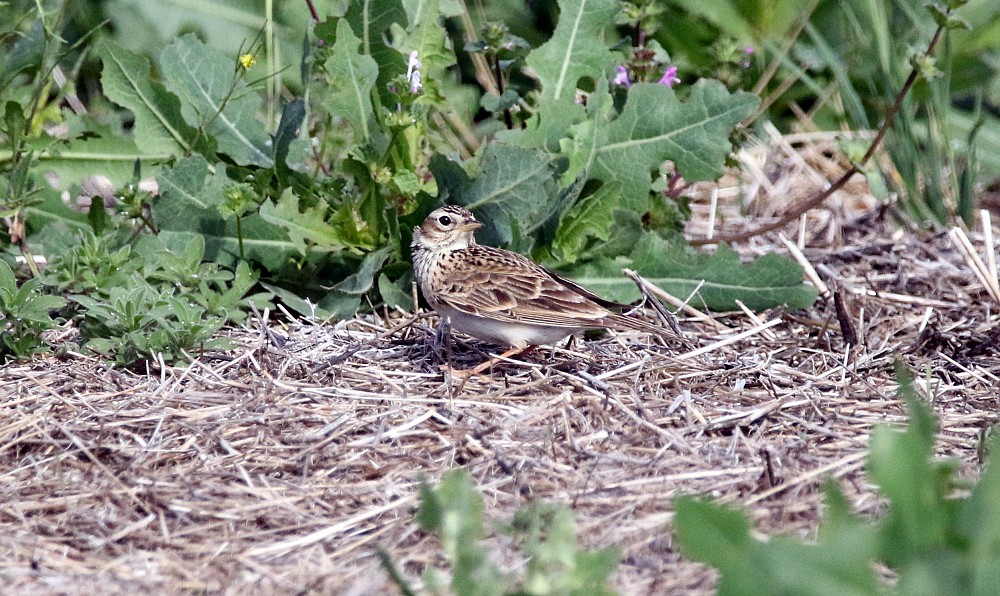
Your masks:
{"label": "blurred green foreground leaves in the bottom right corner", "polygon": [[[750,535],[744,513],[691,497],[677,500],[676,536],[685,556],[718,567],[720,594],[990,594],[1000,580],[1000,468],[979,482],[959,480],[956,464],[935,461],[936,421],[910,373],[897,366],[905,431],[872,434],[868,477],[887,501],[871,523],[853,515],[837,484],[826,485],[827,512],[815,544]],[[990,453],[1000,443],[990,441]],[[966,495],[965,493],[968,492]],[[896,577],[879,581],[874,563]]]}

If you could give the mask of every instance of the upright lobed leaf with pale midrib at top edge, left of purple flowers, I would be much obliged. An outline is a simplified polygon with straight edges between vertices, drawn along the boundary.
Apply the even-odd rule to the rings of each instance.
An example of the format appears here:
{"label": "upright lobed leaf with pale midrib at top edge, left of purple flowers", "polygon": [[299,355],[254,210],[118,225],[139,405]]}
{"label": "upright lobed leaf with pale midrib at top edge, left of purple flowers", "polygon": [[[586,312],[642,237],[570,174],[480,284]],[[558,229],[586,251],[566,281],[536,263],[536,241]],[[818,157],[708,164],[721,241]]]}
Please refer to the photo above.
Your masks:
{"label": "upright lobed leaf with pale midrib at top edge, left of purple flowers", "polygon": [[560,0],[552,38],[528,54],[527,64],[542,84],[542,99],[565,103],[576,97],[577,81],[597,81],[615,63],[607,36],[618,14],[616,0]]}

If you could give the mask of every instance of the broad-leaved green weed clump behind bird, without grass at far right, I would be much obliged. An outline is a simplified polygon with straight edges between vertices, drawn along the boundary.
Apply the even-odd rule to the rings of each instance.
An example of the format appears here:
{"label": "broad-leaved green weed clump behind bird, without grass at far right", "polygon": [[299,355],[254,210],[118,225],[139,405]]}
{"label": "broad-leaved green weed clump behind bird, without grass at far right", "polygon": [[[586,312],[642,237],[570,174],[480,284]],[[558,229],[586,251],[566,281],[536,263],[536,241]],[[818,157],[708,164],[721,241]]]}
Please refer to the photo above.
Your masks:
{"label": "broad-leaved green weed clump behind bird, without grass at far right", "polygon": [[[681,244],[686,205],[671,190],[722,173],[758,100],[682,84],[639,34],[656,29],[651,4],[566,0],[531,43],[476,13],[482,40],[458,52],[444,25],[462,9],[439,0],[350,3],[312,29],[301,14],[204,3],[205,22],[261,24],[239,44],[201,27],[175,37],[165,8],[156,20],[95,6],[0,8],[0,246],[68,299],[49,314],[78,326],[85,350],[119,364],[218,345],[252,290],[319,317],[412,308],[410,230],[443,202],[489,222],[483,241],[610,297],[635,297],[618,273],[629,266],[678,293],[706,280],[711,308],[815,298],[791,261],[744,269]],[[126,16],[144,25],[126,32]],[[292,62],[276,56],[290,23],[308,32]]]}

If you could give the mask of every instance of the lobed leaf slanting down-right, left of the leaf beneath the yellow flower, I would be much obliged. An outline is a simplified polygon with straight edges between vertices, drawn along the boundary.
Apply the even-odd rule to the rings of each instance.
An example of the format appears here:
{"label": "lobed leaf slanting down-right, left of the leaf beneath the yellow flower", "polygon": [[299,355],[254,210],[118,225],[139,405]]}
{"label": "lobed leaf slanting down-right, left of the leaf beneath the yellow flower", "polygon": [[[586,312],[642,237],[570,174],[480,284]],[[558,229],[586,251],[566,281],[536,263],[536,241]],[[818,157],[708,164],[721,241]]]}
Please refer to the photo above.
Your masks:
{"label": "lobed leaf slanting down-right, left of the leaf beneath the yellow flower", "polygon": [[108,99],[135,115],[135,144],[144,153],[186,154],[195,131],[184,123],[181,104],[150,77],[149,60],[103,39],[101,88]]}

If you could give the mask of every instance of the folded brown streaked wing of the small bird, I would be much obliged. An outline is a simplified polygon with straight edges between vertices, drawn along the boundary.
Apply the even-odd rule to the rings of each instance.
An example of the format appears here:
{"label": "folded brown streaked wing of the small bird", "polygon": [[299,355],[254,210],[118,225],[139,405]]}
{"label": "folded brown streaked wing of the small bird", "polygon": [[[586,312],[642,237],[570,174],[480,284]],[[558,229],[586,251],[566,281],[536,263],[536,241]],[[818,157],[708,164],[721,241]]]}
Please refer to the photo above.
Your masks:
{"label": "folded brown streaked wing of the small bird", "polygon": [[[594,294],[517,253],[474,245],[449,263],[438,300],[493,319],[554,327],[602,327],[612,313]],[[613,304],[613,303],[609,303]]]}

